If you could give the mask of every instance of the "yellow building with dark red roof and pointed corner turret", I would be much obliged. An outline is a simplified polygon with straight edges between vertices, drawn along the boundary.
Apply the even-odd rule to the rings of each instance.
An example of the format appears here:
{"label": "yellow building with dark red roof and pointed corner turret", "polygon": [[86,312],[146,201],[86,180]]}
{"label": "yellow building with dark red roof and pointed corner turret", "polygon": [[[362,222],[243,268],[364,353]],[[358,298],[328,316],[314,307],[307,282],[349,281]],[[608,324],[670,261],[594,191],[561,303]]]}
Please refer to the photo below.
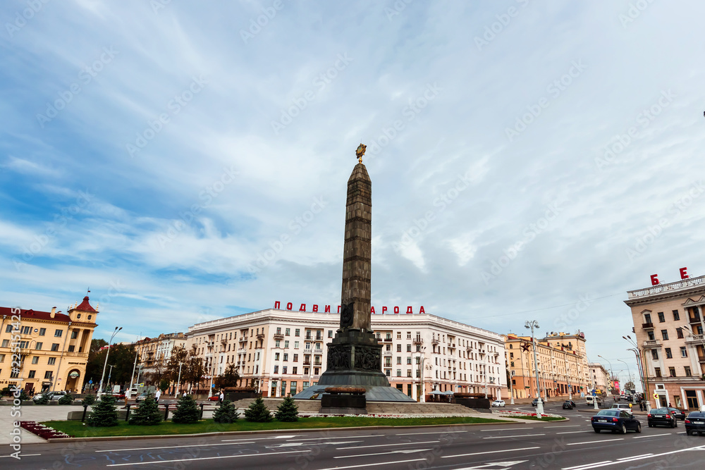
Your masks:
{"label": "yellow building with dark red roof and pointed corner turret", "polygon": [[0,388],[82,390],[98,311],[87,296],[67,311],[0,307]]}

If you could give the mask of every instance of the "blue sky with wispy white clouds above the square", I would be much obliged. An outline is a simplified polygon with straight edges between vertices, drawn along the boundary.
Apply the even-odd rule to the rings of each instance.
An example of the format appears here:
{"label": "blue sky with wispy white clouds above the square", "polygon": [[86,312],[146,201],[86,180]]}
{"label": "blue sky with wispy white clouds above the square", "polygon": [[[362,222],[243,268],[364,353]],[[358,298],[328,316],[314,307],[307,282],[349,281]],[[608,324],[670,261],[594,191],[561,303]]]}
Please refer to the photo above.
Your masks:
{"label": "blue sky with wispy white clouds above the square", "polygon": [[66,311],[90,288],[95,337],[119,341],[336,306],[362,142],[376,311],[580,330],[634,376],[627,290],[705,274],[704,16],[3,2],[0,302]]}

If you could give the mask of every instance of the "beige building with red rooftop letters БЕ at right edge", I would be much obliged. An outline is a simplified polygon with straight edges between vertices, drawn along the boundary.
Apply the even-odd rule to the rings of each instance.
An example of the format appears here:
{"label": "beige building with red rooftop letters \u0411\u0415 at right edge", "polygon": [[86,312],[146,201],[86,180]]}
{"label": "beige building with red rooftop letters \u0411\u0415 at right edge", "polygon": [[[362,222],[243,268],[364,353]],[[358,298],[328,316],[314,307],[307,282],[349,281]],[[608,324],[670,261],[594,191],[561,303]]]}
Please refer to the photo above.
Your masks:
{"label": "beige building with red rooftop letters \u0411\u0415 at right edge", "polygon": [[705,276],[627,292],[646,398],[652,407],[698,409],[705,404]]}

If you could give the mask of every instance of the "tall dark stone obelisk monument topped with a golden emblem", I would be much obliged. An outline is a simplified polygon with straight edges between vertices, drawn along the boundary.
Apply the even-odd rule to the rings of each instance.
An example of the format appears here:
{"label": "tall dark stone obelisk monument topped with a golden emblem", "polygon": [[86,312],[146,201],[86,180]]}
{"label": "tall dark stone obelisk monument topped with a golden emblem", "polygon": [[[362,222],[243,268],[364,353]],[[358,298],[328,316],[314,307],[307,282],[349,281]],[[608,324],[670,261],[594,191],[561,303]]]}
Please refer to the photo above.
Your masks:
{"label": "tall dark stone obelisk monument topped with a golden emblem", "polygon": [[365,148],[363,144],[357,147],[358,163],[348,180],[340,328],[327,344],[326,371],[318,384],[295,398],[313,397],[331,385],[351,385],[364,388],[367,401],[415,401],[389,385],[382,372],[382,345],[372,333],[372,182],[362,164]]}

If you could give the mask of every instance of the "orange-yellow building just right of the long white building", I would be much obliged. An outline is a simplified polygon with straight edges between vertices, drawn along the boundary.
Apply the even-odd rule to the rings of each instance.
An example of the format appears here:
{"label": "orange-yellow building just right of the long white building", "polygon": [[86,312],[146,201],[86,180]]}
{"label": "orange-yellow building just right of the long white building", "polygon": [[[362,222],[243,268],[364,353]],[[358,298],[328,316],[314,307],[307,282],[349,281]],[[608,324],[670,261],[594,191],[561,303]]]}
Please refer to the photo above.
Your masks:
{"label": "orange-yellow building just right of the long white building", "polygon": [[510,333],[503,338],[515,398],[537,396],[537,370],[542,397],[580,396],[591,390],[584,333],[551,332],[545,338],[537,338],[538,369],[534,367],[531,336]]}

